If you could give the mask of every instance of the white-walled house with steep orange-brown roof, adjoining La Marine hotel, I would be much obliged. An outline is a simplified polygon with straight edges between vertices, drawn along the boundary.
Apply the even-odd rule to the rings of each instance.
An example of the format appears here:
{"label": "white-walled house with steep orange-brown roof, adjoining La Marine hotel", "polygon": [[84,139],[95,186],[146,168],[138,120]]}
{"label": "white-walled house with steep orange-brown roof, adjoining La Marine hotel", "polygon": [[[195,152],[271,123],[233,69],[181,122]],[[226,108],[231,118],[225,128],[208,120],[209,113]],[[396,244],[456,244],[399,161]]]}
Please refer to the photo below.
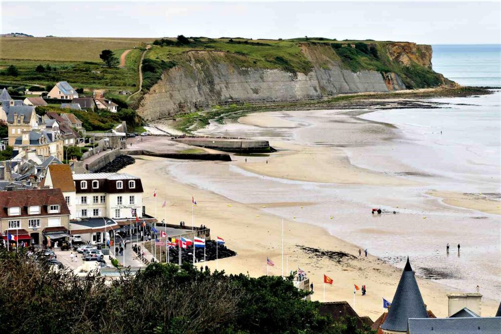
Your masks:
{"label": "white-walled house with steep orange-brown roof, adjoining La Marine hotel", "polygon": [[70,165],[49,165],[47,174],[40,182],[40,186],[61,189],[66,205],[70,209],[70,218],[76,218],[77,195]]}

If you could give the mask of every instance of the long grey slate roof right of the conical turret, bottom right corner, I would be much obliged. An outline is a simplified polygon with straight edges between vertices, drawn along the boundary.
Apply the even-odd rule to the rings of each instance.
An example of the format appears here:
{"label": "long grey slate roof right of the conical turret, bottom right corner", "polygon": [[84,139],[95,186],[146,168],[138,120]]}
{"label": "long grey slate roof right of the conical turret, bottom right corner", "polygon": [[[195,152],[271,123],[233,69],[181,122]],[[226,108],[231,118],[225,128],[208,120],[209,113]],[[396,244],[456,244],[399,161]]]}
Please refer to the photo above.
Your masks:
{"label": "long grey slate roof right of the conical turret, bottom right corner", "polygon": [[411,318],[408,326],[409,334],[499,334],[501,317]]}

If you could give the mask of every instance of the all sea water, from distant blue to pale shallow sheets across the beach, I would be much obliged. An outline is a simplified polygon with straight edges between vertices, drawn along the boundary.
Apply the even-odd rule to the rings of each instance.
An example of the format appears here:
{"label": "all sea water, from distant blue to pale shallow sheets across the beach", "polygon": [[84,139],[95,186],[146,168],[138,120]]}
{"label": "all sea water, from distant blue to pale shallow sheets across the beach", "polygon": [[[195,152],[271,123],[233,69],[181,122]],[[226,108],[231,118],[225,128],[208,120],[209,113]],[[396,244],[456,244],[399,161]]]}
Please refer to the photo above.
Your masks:
{"label": "all sea water, from distant blue to pale shallow sheets across the beach", "polygon": [[[501,87],[500,60],[499,45],[433,46],[433,69],[465,86]],[[350,162],[391,174],[407,166],[417,172],[402,177],[422,182],[422,186],[291,181],[257,175],[231,164],[217,164],[209,171],[202,163],[179,161],[169,163],[168,169],[181,182],[241,203],[309,202],[311,205],[304,208],[263,210],[325,227],[332,235],[368,248],[371,254],[397,267],[403,267],[409,255],[418,275],[466,292],[473,292],[478,284],[488,289],[491,297],[500,298],[501,217],[449,207],[427,195],[438,190],[483,193],[493,200],[501,199],[501,90],[492,92],[426,100],[436,103],[437,109],[376,110],[359,116],[393,125],[396,136],[367,146],[343,147]],[[231,120],[226,124],[211,122],[200,134],[339,148],[333,135],[336,129],[331,128],[338,113],[277,113],[277,117],[298,124],[294,129],[260,128]],[[331,115],[332,122],[326,121]],[[389,163],[393,161],[398,164]],[[396,208],[398,214],[378,217],[369,213],[370,208],[380,205]],[[447,242],[453,248],[460,243],[461,253],[446,254]]]}

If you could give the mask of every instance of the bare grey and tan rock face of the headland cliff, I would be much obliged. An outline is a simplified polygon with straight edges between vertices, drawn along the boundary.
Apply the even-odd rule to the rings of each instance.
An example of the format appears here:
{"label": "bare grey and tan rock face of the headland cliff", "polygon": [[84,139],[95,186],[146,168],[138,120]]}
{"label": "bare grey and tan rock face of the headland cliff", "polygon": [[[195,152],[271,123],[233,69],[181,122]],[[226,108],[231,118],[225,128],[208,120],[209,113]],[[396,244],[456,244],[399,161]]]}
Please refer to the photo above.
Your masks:
{"label": "bare grey and tan rock face of the headland cliff", "polygon": [[[165,71],[144,95],[138,113],[153,120],[224,103],[297,101],[406,89],[396,73],[352,72],[328,45],[305,43],[300,48],[312,65],[306,74],[255,67],[246,57],[226,52],[186,52],[178,65]],[[403,66],[414,62],[431,68],[429,46],[395,43],[386,50],[392,62]]]}

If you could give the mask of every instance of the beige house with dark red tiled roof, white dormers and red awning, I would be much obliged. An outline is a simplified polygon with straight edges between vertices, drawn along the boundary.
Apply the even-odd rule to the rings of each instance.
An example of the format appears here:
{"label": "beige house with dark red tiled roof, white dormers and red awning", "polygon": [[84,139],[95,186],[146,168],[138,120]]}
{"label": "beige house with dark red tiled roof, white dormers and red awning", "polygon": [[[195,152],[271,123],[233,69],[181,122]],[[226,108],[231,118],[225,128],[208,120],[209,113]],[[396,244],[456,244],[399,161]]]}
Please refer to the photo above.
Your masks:
{"label": "beige house with dark red tiled roof, white dormers and red awning", "polygon": [[60,189],[0,192],[0,230],[36,245],[69,239],[70,210]]}

